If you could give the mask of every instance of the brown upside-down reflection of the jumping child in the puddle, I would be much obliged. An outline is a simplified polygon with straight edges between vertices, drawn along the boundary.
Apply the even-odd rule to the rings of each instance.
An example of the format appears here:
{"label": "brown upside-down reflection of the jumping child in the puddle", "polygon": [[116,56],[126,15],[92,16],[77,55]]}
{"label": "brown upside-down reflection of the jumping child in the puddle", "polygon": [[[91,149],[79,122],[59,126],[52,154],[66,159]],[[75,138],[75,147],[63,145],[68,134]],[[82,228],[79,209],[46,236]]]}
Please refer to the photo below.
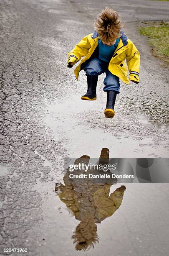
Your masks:
{"label": "brown upside-down reflection of the jumping child in the puddle", "polygon": [[[89,156],[81,156],[76,159],[75,164],[79,162],[88,164],[89,159]],[[102,148],[98,163],[105,165],[108,162],[108,148]],[[98,173],[101,172],[103,171],[98,170]],[[79,170],[76,173],[79,174]],[[94,173],[96,174],[96,170]],[[71,179],[69,172],[66,172],[63,181],[64,185],[61,183],[55,185],[55,192],[76,220],[80,221],[72,236],[75,249],[86,251],[91,247],[94,248],[94,244],[98,242],[96,224],[101,223],[116,212],[122,203],[126,187],[121,186],[109,195],[110,188],[112,184],[116,183],[116,179],[91,182],[91,179],[88,178]]]}

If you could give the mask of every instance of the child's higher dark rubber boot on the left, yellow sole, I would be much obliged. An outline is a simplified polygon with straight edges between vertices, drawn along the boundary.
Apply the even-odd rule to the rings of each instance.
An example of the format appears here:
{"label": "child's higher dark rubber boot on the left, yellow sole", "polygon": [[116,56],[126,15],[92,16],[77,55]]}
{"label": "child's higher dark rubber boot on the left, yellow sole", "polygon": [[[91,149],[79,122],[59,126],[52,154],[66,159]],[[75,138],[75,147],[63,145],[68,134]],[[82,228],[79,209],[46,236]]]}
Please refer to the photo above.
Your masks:
{"label": "child's higher dark rubber boot on the left, yellow sole", "polygon": [[85,95],[81,97],[82,100],[96,100],[96,87],[98,75],[87,75],[88,90]]}

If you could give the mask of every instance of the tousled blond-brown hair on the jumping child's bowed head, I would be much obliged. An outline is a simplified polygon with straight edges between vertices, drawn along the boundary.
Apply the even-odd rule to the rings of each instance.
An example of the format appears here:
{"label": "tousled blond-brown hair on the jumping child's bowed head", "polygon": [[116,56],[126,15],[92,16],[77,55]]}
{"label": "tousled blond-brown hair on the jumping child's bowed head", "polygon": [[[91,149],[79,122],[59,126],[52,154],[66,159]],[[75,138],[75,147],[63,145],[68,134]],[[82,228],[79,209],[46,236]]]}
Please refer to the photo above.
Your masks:
{"label": "tousled blond-brown hair on the jumping child's bowed head", "polygon": [[115,41],[120,37],[120,29],[124,27],[121,16],[113,9],[106,7],[96,20],[94,28],[101,40],[106,42]]}

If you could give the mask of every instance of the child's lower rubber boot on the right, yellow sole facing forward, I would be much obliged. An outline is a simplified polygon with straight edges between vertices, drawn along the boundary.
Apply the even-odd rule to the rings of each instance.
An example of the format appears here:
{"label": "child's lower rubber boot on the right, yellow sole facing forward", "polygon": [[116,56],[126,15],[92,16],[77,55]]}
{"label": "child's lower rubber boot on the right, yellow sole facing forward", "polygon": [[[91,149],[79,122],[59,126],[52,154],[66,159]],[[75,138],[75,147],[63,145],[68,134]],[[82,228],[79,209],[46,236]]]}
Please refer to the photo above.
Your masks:
{"label": "child's lower rubber boot on the right, yellow sole facing forward", "polygon": [[107,91],[107,103],[106,109],[104,110],[104,114],[107,118],[113,118],[115,115],[114,112],[114,104],[116,101],[117,92]]}

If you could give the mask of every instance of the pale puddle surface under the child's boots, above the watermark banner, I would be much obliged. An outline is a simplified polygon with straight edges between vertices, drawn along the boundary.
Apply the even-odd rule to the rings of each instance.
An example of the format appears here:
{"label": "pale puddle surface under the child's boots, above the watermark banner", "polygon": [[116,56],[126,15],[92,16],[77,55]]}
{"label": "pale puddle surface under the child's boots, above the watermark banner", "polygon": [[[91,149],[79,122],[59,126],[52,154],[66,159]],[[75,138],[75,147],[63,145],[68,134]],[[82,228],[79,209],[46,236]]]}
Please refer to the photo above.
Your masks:
{"label": "pale puddle surface under the child's boots, above the watermark banner", "polygon": [[119,102],[115,117],[105,118],[105,97],[98,92],[99,100],[84,101],[81,95],[70,95],[48,106],[46,124],[72,158],[83,154],[96,158],[102,147],[115,158],[168,157],[168,128],[152,125],[137,112],[129,118]]}

